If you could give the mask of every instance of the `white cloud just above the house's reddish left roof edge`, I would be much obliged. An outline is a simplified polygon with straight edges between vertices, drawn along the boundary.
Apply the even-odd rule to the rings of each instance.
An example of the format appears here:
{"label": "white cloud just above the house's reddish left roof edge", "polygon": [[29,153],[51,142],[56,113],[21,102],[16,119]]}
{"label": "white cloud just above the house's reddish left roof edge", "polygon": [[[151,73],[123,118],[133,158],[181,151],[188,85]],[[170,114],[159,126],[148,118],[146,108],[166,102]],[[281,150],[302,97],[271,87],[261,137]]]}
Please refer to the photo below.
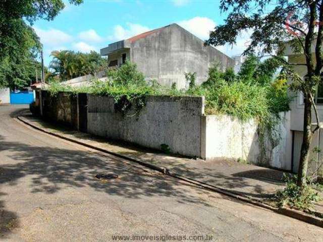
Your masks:
{"label": "white cloud just above the house's reddish left roof edge", "polygon": [[127,23],[126,28],[121,25],[116,25],[114,27],[113,35],[109,36],[108,39],[111,41],[119,41],[123,39],[128,39],[134,35],[141,34],[149,31],[150,29],[146,26],[140,24]]}

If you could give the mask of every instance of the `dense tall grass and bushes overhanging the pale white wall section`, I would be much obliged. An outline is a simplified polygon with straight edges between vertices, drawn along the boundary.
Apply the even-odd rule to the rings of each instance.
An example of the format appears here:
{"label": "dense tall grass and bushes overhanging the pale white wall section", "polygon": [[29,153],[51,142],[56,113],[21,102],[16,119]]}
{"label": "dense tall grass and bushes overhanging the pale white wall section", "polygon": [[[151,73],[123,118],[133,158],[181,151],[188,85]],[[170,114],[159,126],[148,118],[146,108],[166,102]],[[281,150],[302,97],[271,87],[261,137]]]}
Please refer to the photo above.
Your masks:
{"label": "dense tall grass and bushes overhanging the pale white wall section", "polygon": [[247,57],[237,75],[232,69],[221,70],[219,64],[214,64],[206,82],[187,93],[205,96],[206,114],[226,113],[247,120],[288,111],[291,97],[287,95],[286,76],[282,72],[274,79],[276,62],[255,59],[258,58],[253,55]]}

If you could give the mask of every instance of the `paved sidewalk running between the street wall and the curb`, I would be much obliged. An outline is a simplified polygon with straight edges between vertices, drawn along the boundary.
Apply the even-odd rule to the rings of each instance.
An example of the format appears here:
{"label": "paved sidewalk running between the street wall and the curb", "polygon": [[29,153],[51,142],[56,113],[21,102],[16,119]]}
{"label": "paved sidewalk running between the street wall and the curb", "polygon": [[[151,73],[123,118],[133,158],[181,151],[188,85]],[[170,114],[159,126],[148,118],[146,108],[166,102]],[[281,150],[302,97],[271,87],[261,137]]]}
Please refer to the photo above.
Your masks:
{"label": "paved sidewalk running between the street wall and the curb", "polygon": [[[158,167],[164,167],[171,174],[178,174],[208,186],[217,187],[241,196],[270,203],[270,198],[284,187],[282,171],[241,164],[232,160],[204,161],[166,155],[126,143],[109,141],[92,135],[73,131],[63,126],[49,124],[40,118],[21,114],[19,118],[29,125],[49,133],[57,134],[78,143],[84,143],[118,155],[139,160]],[[315,210],[323,213],[323,202],[316,204]]]}

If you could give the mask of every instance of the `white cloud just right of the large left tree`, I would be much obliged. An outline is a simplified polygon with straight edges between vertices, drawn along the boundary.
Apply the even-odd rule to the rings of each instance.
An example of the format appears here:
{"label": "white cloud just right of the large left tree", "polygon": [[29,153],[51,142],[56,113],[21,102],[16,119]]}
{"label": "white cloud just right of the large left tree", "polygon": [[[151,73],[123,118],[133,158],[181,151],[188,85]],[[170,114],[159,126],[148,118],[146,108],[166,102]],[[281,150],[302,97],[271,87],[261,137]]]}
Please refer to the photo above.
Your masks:
{"label": "white cloud just right of the large left tree", "polygon": [[64,33],[58,29],[48,29],[43,30],[37,27],[34,27],[36,34],[40,38],[40,42],[47,46],[57,46],[62,45],[73,40],[73,37],[67,33]]}

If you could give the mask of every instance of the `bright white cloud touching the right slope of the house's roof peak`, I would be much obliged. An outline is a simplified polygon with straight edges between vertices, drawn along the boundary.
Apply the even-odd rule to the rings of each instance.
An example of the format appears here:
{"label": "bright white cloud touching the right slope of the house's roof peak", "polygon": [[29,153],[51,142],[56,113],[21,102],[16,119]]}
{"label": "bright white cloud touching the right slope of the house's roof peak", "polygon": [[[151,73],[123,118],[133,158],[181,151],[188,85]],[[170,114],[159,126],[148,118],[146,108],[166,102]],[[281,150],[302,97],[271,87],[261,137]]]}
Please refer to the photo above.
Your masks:
{"label": "bright white cloud touching the right slope of the house's roof peak", "polygon": [[206,17],[194,17],[180,21],[178,24],[202,40],[207,39],[209,32],[216,27],[216,23]]}

